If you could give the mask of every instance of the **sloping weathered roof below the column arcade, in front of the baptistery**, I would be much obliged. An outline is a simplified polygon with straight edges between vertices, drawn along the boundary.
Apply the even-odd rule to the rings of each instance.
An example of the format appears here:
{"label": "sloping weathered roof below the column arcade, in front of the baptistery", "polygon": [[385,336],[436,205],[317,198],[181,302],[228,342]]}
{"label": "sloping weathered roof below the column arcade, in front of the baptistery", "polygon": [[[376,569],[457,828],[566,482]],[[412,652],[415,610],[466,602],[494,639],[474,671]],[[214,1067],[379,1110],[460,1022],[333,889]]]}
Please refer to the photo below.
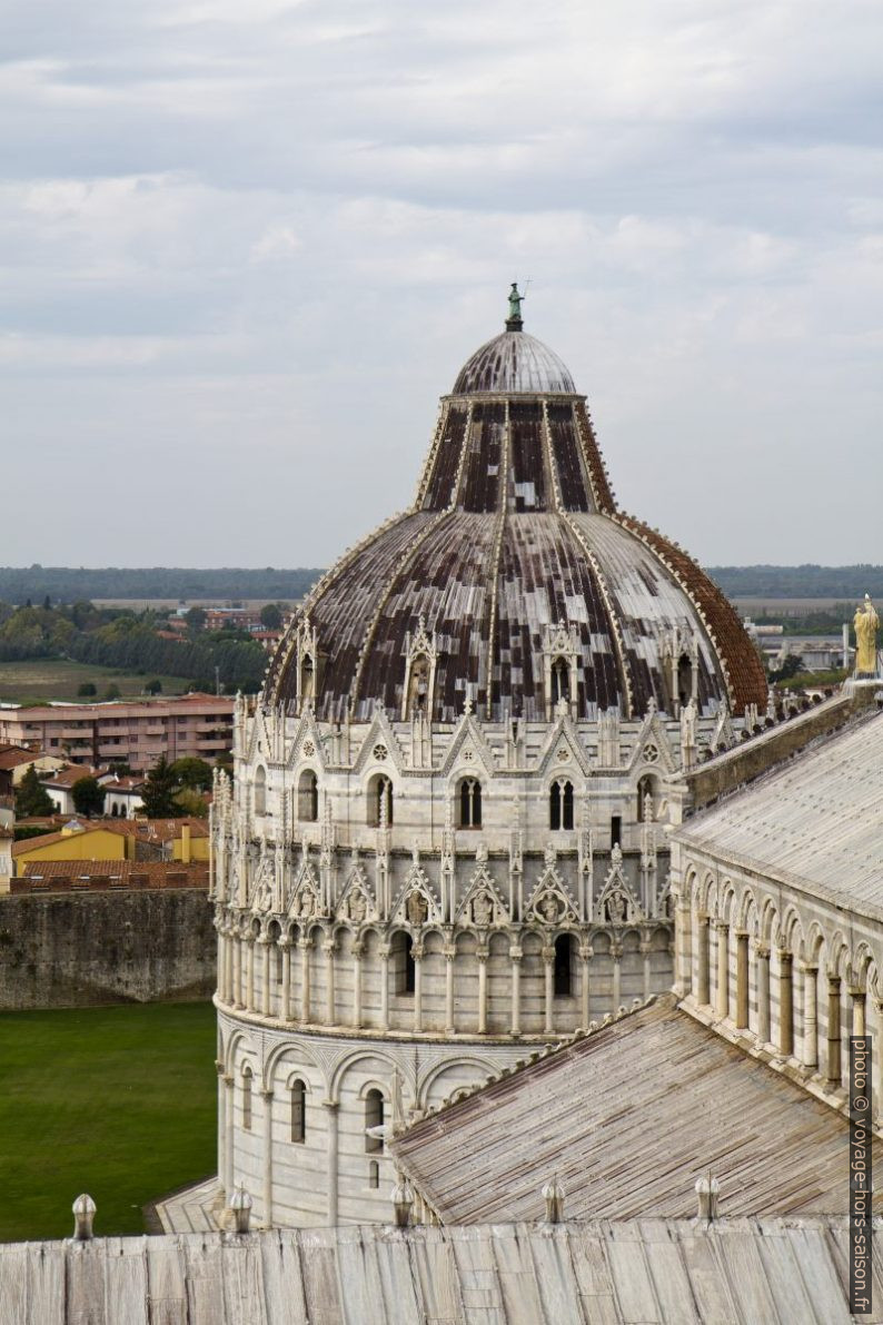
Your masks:
{"label": "sloping weathered roof below the column arcade, in front of the baptistery", "polygon": [[843,1208],[846,1136],[839,1113],[666,995],[430,1114],[391,1150],[445,1223],[537,1218],[552,1174],[568,1218],[688,1218],[708,1169],[721,1215],[767,1218]]}

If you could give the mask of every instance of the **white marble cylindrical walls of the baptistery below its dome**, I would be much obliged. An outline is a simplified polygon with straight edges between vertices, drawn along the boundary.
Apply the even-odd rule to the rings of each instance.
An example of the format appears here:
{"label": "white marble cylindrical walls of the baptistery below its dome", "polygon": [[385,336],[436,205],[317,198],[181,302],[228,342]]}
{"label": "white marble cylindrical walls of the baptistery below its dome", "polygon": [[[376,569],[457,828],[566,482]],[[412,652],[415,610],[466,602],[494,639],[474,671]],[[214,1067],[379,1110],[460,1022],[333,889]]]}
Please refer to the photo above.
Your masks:
{"label": "white marble cylindrical walls of the baptistery below its dome", "polygon": [[267,1223],[385,1218],[367,1128],[671,986],[680,731],[237,704],[212,811],[228,1194]]}

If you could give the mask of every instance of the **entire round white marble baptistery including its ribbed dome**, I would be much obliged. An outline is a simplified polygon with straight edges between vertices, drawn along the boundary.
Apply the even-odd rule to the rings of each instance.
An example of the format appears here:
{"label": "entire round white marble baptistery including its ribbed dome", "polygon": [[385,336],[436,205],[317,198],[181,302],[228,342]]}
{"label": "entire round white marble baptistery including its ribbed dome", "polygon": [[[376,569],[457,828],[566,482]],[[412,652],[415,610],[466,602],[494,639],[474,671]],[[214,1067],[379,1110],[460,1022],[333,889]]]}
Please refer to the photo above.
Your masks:
{"label": "entire round white marble baptistery including its ribbed dome", "polygon": [[413,506],[236,705],[221,1204],[385,1219],[392,1120],[669,988],[684,774],[767,721],[739,617],[617,506],[585,398],[511,317],[442,398]]}

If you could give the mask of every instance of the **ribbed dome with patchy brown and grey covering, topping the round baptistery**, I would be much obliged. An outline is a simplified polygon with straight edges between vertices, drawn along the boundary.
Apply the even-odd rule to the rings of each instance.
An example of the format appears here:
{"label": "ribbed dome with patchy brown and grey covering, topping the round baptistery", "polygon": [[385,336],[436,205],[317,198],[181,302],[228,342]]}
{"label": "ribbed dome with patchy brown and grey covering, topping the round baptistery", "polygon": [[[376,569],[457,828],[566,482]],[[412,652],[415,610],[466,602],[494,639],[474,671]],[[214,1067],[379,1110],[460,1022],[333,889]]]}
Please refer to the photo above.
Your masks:
{"label": "ribbed dome with patchy brown and grey covering, topping the round baptistery", "polygon": [[377,704],[404,714],[420,639],[436,721],[466,701],[481,717],[547,718],[556,657],[580,719],[641,717],[650,701],[673,713],[683,660],[700,713],[764,705],[763,666],[727,599],[617,507],[585,398],[520,318],[507,326],[442,398],[410,509],[310,594],[267,696],[297,700],[308,648],[319,718]]}

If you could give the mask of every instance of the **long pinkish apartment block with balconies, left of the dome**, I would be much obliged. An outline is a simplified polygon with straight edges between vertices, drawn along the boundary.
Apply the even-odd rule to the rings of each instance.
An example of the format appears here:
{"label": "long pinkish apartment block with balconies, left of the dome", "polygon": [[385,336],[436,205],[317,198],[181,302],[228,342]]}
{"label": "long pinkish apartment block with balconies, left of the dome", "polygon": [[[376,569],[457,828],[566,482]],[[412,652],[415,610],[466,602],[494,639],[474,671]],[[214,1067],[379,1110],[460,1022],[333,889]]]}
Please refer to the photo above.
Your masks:
{"label": "long pinkish apartment block with balconies, left of the dome", "polygon": [[144,772],[160,755],[213,763],[230,750],[233,700],[212,694],[111,704],[0,709],[0,742],[30,746],[65,762],[127,763]]}

